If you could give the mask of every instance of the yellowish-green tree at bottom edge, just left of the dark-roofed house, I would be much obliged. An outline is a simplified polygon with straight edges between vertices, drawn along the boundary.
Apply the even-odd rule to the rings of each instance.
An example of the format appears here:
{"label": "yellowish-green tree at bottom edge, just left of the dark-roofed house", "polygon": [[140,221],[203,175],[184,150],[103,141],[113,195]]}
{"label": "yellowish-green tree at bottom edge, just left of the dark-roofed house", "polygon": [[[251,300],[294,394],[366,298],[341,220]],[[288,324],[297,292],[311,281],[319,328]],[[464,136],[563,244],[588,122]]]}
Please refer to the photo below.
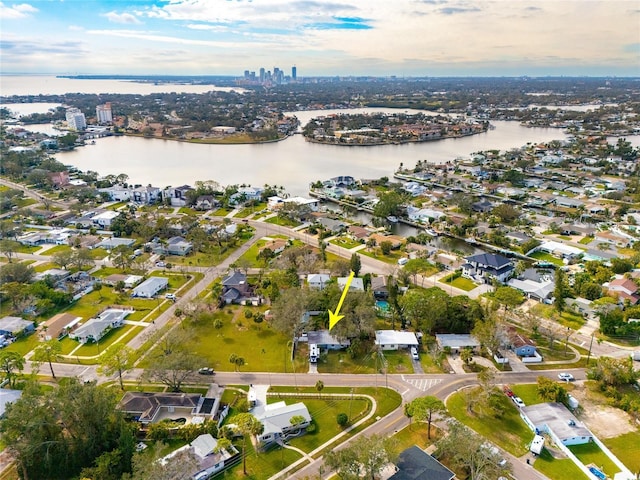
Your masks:
{"label": "yellowish-green tree at bottom edge, just left of the dark-roofed house", "polygon": [[393,437],[360,436],[345,448],[327,452],[325,463],[342,480],[357,480],[363,476],[375,480],[387,465],[395,462],[396,443]]}

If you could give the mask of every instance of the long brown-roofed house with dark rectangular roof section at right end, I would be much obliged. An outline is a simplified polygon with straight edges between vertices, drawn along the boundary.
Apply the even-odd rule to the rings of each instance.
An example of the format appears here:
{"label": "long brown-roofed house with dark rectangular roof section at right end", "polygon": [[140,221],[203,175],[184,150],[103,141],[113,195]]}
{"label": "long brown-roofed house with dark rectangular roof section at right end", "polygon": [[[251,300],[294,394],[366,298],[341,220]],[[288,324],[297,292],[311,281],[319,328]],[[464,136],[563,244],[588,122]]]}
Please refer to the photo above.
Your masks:
{"label": "long brown-roofed house with dark rectangular roof section at right end", "polygon": [[220,406],[219,397],[203,397],[199,393],[126,392],[118,410],[142,424],[166,418],[214,418]]}

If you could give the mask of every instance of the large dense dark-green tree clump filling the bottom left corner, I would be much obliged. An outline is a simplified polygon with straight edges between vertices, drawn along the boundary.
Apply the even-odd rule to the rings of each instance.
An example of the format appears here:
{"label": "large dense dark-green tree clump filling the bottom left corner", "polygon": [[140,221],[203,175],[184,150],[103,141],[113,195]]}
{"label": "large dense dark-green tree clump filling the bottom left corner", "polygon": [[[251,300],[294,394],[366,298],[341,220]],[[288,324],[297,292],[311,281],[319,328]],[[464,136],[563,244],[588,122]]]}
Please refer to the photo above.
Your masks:
{"label": "large dense dark-green tree clump filling the bottom left corner", "polygon": [[94,478],[110,480],[129,472],[135,437],[116,409],[116,395],[112,389],[76,378],[62,379],[49,391],[27,385],[22,397],[7,406],[1,424],[3,441],[17,459],[20,476],[77,478],[92,465],[109,473]]}

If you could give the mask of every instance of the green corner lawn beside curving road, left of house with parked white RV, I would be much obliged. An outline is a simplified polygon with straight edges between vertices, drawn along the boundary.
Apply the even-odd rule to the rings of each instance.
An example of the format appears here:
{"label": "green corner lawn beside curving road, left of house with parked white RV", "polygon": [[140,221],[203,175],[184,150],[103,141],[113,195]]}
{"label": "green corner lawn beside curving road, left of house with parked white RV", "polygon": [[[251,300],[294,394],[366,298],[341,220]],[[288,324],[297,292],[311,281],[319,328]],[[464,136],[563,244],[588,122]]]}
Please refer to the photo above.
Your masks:
{"label": "green corner lawn beside curving road, left of house with parked white RV", "polygon": [[500,398],[504,413],[495,417],[483,412],[468,412],[466,395],[466,391],[462,391],[449,397],[447,409],[452,417],[517,457],[527,453],[534,434],[522,421],[509,397],[504,395]]}

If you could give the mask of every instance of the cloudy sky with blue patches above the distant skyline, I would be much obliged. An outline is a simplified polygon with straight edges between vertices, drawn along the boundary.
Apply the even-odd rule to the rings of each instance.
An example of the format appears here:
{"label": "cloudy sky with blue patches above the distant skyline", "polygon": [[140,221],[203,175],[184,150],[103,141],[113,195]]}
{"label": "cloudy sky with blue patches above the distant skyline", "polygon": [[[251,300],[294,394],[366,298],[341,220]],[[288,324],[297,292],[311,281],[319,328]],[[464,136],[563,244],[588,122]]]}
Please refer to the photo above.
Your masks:
{"label": "cloudy sky with blue patches above the distant skyline", "polygon": [[640,76],[640,0],[0,1],[0,72]]}

